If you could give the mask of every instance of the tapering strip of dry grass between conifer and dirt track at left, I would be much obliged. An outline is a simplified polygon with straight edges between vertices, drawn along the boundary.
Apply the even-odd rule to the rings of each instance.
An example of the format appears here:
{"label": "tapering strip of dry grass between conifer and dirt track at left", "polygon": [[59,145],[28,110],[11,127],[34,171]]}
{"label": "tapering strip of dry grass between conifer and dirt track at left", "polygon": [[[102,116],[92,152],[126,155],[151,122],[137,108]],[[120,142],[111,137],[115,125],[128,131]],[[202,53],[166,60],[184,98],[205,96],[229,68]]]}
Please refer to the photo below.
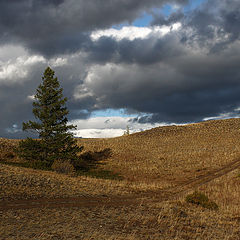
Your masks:
{"label": "tapering strip of dry grass between conifer and dirt track at left", "polygon": [[59,198],[89,195],[126,195],[126,182],[71,177],[49,171],[0,165],[0,200]]}

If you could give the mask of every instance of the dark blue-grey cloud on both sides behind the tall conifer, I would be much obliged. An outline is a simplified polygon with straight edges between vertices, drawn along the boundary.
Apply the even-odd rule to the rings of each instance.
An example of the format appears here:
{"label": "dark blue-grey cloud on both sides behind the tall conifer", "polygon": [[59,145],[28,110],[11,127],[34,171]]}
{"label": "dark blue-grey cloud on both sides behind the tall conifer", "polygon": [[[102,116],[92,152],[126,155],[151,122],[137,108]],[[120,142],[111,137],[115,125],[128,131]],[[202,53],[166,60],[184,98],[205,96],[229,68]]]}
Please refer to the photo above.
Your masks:
{"label": "dark blue-grey cloud on both sides behind the tall conifer", "polygon": [[[22,123],[29,120],[36,120],[32,113],[32,99],[30,96],[36,93],[36,88],[42,81],[46,63],[37,63],[28,69],[28,75],[11,83],[9,79],[0,79],[0,137],[23,138],[37,137],[33,132],[22,132]],[[70,110],[69,119],[87,118],[90,113],[81,111],[94,104],[93,101],[77,102],[73,99],[73,88],[81,82],[84,71],[72,64],[70,66],[55,67],[55,75],[61,86],[64,88],[64,96],[68,98],[67,106]],[[74,69],[74,70],[73,70]],[[79,71],[76,71],[78,69]],[[71,76],[71,77],[69,77]],[[80,79],[79,79],[80,78]],[[16,125],[16,127],[14,127]]]}

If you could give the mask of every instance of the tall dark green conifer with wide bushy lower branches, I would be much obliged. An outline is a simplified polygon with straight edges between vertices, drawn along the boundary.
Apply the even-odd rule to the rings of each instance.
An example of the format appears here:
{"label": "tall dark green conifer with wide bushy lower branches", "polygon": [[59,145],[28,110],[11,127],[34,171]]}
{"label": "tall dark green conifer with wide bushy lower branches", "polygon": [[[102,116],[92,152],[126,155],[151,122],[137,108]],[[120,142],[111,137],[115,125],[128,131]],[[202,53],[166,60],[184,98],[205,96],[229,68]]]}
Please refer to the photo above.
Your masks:
{"label": "tall dark green conifer with wide bushy lower branches", "polygon": [[50,67],[46,68],[42,83],[36,90],[33,114],[37,121],[23,123],[23,130],[37,132],[40,139],[21,141],[18,153],[26,160],[41,161],[47,166],[55,160],[69,161],[74,165],[82,147],[77,145],[73,133],[69,131],[76,127],[67,125],[67,98],[63,97],[63,89],[54,74]]}

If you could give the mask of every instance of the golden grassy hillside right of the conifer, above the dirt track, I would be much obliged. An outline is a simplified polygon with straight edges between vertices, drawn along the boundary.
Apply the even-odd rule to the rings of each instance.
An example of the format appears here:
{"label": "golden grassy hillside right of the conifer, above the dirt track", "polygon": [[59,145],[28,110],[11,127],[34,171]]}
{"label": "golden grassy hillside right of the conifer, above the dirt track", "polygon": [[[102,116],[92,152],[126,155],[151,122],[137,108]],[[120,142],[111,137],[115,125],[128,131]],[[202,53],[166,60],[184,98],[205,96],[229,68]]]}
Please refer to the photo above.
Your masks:
{"label": "golden grassy hillside right of the conifer, above the dirt track", "polygon": [[106,168],[129,182],[159,187],[206,174],[240,157],[240,120],[159,127],[113,139],[80,139],[79,144],[85,150],[111,148]]}

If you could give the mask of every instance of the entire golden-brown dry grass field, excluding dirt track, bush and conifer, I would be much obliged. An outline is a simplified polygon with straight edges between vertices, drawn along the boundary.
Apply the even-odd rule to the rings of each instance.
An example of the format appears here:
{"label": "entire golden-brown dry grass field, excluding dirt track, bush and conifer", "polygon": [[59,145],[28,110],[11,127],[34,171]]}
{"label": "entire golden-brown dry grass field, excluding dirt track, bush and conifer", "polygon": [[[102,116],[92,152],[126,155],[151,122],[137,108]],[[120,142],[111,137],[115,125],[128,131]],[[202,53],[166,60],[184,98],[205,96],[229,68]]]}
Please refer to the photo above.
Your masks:
{"label": "entire golden-brown dry grass field, excluding dirt track, bush and conifer", "polygon": [[[1,164],[21,160],[12,150],[18,141],[0,139],[0,204],[86,196],[112,197],[115,203],[0,210],[0,239],[240,239],[240,168],[224,172],[225,166],[240,161],[240,119],[78,143],[84,151],[110,148],[112,156],[100,167],[122,180]],[[206,181],[221,168],[220,177]],[[201,184],[186,185],[177,194],[198,179]],[[219,209],[186,202],[186,195],[194,191],[204,193]],[[169,197],[162,197],[165,192]],[[133,204],[118,206],[114,197],[127,197]]]}

